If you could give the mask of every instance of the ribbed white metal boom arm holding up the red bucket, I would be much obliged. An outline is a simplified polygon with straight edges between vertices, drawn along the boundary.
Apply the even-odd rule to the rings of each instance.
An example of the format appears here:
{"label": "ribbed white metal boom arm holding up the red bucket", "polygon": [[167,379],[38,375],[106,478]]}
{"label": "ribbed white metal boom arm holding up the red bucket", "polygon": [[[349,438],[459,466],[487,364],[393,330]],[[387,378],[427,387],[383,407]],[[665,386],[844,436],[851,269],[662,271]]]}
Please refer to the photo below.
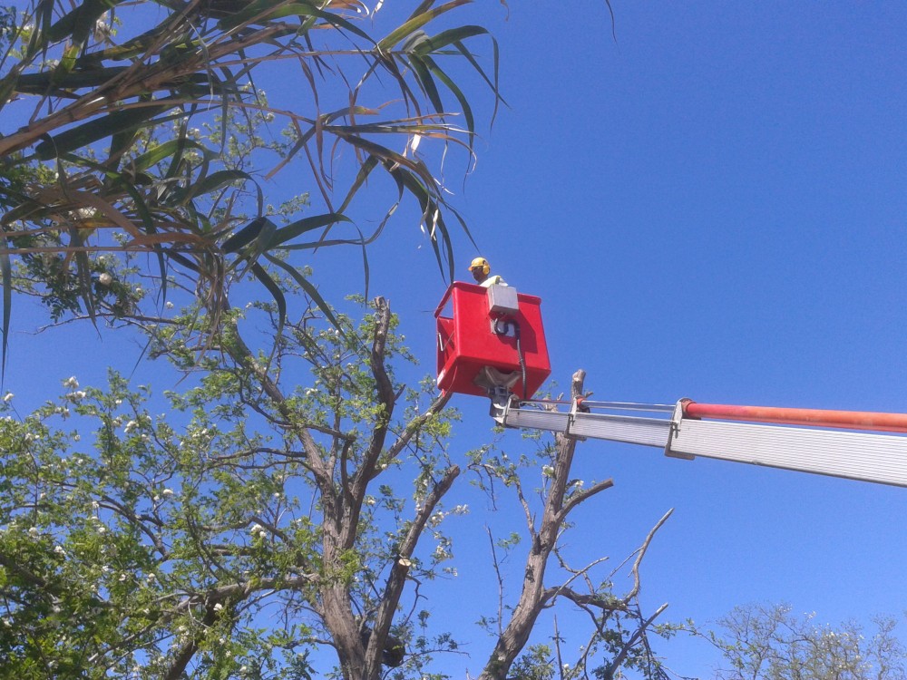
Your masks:
{"label": "ribbed white metal boom arm holding up the red bucket", "polygon": [[[685,413],[688,403],[689,400],[680,400],[674,405],[580,400],[572,403],[570,411],[556,411],[551,410],[551,402],[510,400],[501,405],[495,403],[493,415],[498,423],[507,427],[657,446],[676,458],[692,460],[695,456],[705,456],[907,487],[907,437],[783,424],[701,420]],[[750,407],[729,408],[740,411]],[[900,417],[899,414],[893,416]],[[757,420],[755,417],[741,419]],[[825,428],[873,429],[873,421],[856,425],[818,420],[814,423],[793,422]]]}

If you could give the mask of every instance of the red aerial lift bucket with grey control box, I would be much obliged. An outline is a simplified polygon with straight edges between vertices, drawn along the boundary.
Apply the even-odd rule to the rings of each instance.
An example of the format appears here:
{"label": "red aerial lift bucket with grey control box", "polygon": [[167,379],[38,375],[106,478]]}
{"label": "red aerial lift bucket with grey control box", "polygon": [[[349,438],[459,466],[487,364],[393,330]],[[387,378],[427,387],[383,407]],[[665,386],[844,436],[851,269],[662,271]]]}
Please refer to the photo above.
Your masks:
{"label": "red aerial lift bucket with grey control box", "polygon": [[509,375],[512,393],[526,399],[551,374],[538,297],[454,281],[434,316],[442,392],[488,396],[487,376]]}

